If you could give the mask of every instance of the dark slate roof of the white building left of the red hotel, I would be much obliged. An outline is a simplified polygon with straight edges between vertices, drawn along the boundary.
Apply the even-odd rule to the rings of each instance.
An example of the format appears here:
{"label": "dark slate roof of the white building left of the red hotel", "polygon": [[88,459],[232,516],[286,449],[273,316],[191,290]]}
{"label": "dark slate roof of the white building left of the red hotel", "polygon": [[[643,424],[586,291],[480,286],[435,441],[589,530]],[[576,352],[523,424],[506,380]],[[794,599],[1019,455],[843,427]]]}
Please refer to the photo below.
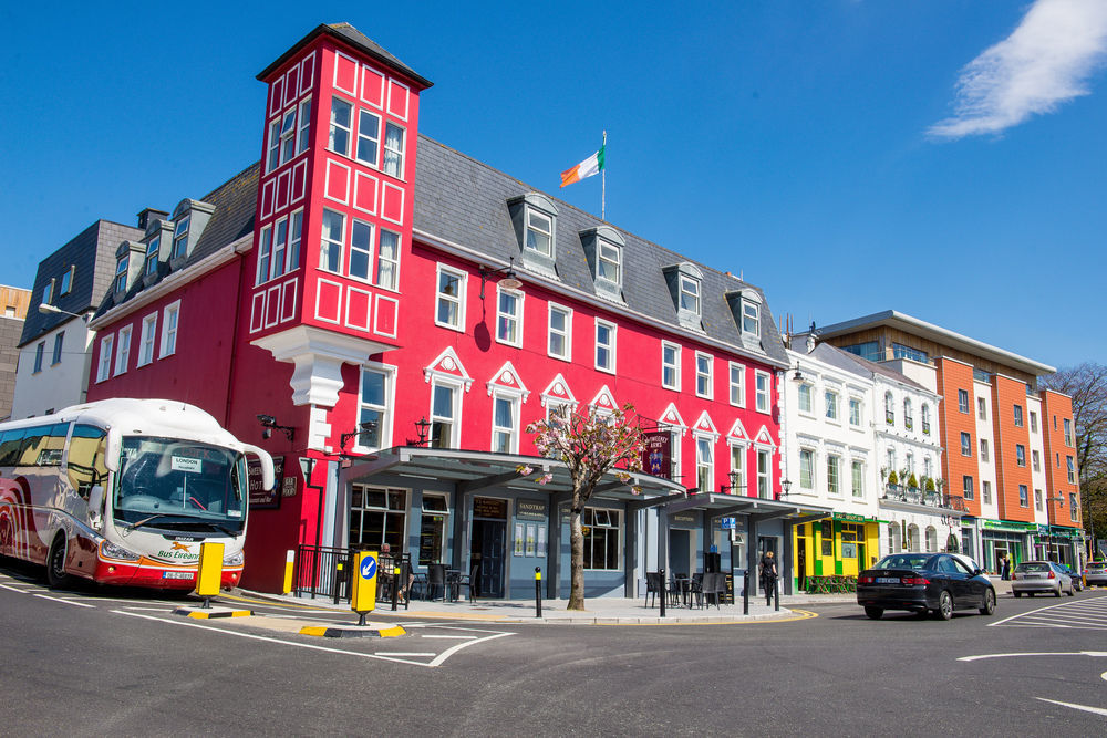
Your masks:
{"label": "dark slate roof of the white building left of the red hotel", "polygon": [[51,279],[55,280],[55,284],[60,284],[62,274],[71,266],[75,266],[70,293],[58,295],[55,288],[53,304],[72,313],[91,310],[101,303],[115,277],[115,249],[120,242],[142,237],[143,231],[137,228],[110,220],[97,220],[40,261],[31,292],[31,306],[27,311],[23,333],[19,340],[20,346],[38,340],[62,323],[75,320],[72,315],[39,312],[43,290]]}

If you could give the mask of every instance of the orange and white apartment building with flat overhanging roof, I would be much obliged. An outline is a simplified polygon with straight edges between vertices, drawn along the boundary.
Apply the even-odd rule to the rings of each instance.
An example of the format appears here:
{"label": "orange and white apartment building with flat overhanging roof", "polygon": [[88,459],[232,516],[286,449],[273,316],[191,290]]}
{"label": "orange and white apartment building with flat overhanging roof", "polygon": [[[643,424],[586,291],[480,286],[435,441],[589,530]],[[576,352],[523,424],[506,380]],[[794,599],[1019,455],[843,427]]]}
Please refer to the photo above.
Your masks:
{"label": "orange and white apartment building with flat overhanging roof", "polygon": [[1054,367],[893,310],[817,334],[941,395],[943,486],[963,499],[963,553],[991,571],[1004,554],[1083,563],[1072,399],[1037,387]]}

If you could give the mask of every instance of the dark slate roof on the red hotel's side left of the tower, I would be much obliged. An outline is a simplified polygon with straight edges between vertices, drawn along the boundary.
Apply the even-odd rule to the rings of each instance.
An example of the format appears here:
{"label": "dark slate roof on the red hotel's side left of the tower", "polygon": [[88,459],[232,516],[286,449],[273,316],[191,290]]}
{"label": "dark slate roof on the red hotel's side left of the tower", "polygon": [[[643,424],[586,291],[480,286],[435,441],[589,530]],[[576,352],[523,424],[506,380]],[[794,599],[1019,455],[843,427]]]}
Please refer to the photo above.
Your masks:
{"label": "dark slate roof on the red hotel's side left of the tower", "polygon": [[[261,163],[255,162],[228,181],[200,198],[201,201],[214,205],[215,211],[211,214],[211,219],[204,228],[204,232],[200,233],[199,240],[196,241],[184,266],[177,267],[176,271],[187,269],[225,246],[234,243],[244,236],[254,233],[254,214],[258,204],[258,173],[260,170]],[[125,238],[139,240],[145,235],[143,231],[136,229],[135,233]],[[115,249],[123,240],[122,238],[117,239],[112,246],[108,284],[115,274]],[[159,264],[157,279],[154,283],[161,282],[169,273],[168,267],[165,263]],[[131,289],[127,290],[126,294],[123,295],[122,300],[116,300],[115,292],[105,288],[106,292],[103,302],[100,304],[100,309],[96,311],[96,316],[103,315],[115,305],[122,304],[143,290],[148,290],[153,287],[154,284],[144,287],[143,279],[139,277],[135,280]]]}

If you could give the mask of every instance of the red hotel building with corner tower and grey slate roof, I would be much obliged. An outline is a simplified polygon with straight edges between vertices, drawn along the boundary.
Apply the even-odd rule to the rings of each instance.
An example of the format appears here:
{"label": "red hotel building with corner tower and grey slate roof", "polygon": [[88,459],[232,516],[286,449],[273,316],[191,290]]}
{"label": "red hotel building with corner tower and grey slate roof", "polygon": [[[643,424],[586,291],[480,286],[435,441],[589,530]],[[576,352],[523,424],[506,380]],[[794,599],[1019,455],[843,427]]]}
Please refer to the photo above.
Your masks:
{"label": "red hotel building with corner tower and grey slate roof", "polygon": [[387,542],[485,596],[528,596],[536,565],[567,594],[566,476],[516,471],[542,466],[525,428],[563,404],[630,402],[673,438],[672,479],[612,478],[584,511],[589,595],[634,596],[713,547],[724,570],[787,555],[805,511],[777,501],[787,357],[761,290],[421,136],[431,82],[348,24],[258,79],[261,162],[143,212],[89,387],[189,402],[251,440],[269,416],[283,480],[252,500],[245,585],[279,589],[300,545]]}

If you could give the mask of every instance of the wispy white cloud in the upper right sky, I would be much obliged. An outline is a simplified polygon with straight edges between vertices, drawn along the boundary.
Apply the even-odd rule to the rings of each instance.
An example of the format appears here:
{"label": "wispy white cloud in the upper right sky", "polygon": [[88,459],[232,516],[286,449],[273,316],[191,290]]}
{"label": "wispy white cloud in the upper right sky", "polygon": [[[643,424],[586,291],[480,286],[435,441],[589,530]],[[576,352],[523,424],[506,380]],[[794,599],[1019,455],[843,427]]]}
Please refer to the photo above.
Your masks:
{"label": "wispy white cloud in the upper right sky", "polygon": [[1107,59],[1107,0],[1037,0],[1010,37],[972,60],[958,80],[954,115],[939,138],[997,134],[1088,94]]}

